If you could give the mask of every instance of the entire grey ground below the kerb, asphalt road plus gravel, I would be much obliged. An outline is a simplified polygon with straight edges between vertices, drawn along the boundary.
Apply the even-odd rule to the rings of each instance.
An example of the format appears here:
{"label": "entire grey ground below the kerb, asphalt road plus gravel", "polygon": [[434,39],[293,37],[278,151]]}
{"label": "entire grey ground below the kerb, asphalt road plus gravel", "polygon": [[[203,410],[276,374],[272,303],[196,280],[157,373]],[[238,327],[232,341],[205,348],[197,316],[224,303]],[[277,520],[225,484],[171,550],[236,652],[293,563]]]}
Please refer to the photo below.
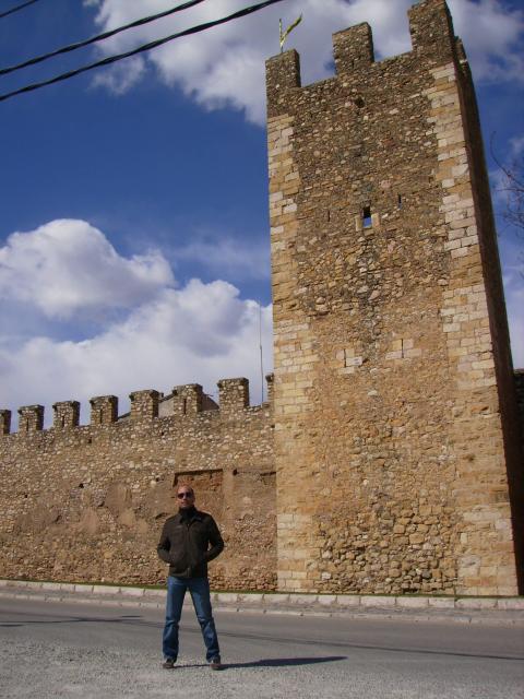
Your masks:
{"label": "entire grey ground below the kerb, asphalt road plus gravel", "polygon": [[499,626],[216,613],[210,671],[191,608],[176,670],[162,613],[0,601],[2,699],[524,699],[524,632]]}

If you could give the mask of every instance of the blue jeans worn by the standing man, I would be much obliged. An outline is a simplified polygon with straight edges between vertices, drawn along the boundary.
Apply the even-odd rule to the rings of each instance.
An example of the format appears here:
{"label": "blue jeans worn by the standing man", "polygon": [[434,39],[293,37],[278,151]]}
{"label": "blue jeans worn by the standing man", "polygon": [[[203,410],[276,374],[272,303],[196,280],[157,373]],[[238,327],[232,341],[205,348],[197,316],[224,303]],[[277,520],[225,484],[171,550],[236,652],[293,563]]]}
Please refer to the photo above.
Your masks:
{"label": "blue jeans worn by the standing man", "polygon": [[205,643],[205,659],[211,662],[221,654],[215,621],[211,609],[210,581],[207,578],[167,578],[166,625],[162,638],[164,657],[178,656],[178,625],[182,614],[183,597],[189,590]]}

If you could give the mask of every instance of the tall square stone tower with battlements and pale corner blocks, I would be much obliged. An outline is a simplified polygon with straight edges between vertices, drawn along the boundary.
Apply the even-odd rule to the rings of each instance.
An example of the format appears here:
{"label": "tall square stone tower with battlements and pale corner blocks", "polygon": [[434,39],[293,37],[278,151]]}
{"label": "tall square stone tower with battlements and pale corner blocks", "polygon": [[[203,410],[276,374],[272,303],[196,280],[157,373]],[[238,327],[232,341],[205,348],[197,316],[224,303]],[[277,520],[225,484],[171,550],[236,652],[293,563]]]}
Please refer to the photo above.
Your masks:
{"label": "tall square stone tower with battlements and pale corner blocks", "polygon": [[267,61],[281,590],[519,590],[475,95],[445,2],[409,27],[412,51],[380,62],[367,24],[335,34],[336,74],[305,87],[296,51]]}

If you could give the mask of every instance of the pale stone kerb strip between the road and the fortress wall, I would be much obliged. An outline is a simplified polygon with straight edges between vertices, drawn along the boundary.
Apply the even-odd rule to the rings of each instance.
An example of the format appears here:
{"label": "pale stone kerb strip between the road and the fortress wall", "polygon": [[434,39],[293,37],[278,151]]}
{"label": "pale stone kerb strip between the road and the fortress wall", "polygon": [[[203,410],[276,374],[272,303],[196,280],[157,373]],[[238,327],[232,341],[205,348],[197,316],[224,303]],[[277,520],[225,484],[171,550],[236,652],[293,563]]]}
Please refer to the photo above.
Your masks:
{"label": "pale stone kerb strip between the road and the fortress wall", "polygon": [[[118,585],[0,580],[1,599],[78,602],[98,606],[163,608],[166,591]],[[405,617],[413,621],[457,621],[524,627],[524,597],[286,594],[213,592],[216,611],[338,617]],[[190,604],[190,599],[186,601]]]}

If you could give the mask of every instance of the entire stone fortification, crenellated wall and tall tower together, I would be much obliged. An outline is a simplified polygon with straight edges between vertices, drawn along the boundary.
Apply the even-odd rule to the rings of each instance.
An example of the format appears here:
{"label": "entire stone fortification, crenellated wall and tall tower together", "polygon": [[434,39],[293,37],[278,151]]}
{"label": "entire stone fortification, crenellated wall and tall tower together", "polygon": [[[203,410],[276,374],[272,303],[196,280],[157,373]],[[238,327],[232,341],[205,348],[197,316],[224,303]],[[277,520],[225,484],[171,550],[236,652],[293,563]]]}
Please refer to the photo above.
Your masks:
{"label": "entire stone fortification, crenellated wall and tall tower together", "polygon": [[[0,410],[0,577],[152,584],[192,485],[216,590],[523,593],[513,371],[475,93],[443,0],[412,50],[333,35],[335,74],[266,63],[274,374]],[[215,395],[216,398],[216,395]]]}

